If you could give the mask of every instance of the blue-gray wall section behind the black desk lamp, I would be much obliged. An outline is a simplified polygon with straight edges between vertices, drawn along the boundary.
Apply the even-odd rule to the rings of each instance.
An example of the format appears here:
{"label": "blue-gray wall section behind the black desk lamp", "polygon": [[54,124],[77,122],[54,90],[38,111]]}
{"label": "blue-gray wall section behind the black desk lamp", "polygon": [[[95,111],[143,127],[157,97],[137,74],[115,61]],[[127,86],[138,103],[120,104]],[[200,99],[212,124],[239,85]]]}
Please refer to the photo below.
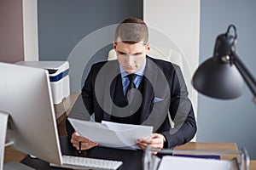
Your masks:
{"label": "blue-gray wall section behind the black desk lamp", "polygon": [[[236,51],[256,76],[256,1],[201,1],[200,63],[212,56],[215,38],[230,24],[238,31]],[[233,31],[232,31],[233,32]],[[245,85],[238,99],[218,100],[199,94],[198,141],[236,142],[256,159],[256,105]]]}

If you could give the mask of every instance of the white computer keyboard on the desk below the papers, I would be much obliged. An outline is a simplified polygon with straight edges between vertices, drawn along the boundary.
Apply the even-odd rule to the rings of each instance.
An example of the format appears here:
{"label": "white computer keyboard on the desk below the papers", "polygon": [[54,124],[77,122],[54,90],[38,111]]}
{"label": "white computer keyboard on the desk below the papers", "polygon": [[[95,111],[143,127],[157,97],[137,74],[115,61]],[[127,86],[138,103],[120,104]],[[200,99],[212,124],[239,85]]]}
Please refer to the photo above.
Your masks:
{"label": "white computer keyboard on the desk below the papers", "polygon": [[50,163],[52,167],[66,167],[72,169],[96,169],[96,170],[116,170],[123,164],[123,161],[113,161],[97,158],[62,156],[62,165]]}

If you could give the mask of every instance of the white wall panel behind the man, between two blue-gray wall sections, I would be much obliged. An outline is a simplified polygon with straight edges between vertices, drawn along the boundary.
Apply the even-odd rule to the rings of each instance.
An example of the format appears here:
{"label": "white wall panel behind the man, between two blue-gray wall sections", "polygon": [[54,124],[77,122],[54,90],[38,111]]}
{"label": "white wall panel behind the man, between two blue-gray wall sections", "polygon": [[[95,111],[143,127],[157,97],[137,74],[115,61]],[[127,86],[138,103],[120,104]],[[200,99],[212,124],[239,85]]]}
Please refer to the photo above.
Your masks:
{"label": "white wall panel behind the man, between two blue-gray wall sections", "polygon": [[[200,0],[144,0],[143,20],[151,30],[152,46],[162,48],[167,55],[170,52],[166,48],[182,54],[183,76],[196,116],[197,92],[191,85],[191,78],[199,62]],[[165,36],[156,35],[159,33]]]}

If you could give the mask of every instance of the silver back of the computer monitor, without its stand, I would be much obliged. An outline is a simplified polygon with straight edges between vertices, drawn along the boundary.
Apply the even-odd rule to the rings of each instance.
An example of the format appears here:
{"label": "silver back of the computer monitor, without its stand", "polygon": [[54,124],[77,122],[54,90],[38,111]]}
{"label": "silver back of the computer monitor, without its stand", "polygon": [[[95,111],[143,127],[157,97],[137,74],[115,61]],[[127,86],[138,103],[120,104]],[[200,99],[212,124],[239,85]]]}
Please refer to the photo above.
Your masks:
{"label": "silver back of the computer monitor, without its stand", "polygon": [[61,165],[48,71],[0,62],[0,111],[9,113],[7,140],[15,149]]}

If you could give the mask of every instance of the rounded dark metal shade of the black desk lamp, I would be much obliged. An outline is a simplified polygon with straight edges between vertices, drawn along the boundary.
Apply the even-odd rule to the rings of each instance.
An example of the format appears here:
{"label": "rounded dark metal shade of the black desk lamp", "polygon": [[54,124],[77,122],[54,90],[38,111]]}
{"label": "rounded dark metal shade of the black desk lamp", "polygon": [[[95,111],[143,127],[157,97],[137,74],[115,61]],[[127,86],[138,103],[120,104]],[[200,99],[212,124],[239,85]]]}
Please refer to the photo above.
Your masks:
{"label": "rounded dark metal shade of the black desk lamp", "polygon": [[192,78],[201,94],[217,99],[234,99],[242,93],[243,79],[235,65],[214,59],[204,61]]}

